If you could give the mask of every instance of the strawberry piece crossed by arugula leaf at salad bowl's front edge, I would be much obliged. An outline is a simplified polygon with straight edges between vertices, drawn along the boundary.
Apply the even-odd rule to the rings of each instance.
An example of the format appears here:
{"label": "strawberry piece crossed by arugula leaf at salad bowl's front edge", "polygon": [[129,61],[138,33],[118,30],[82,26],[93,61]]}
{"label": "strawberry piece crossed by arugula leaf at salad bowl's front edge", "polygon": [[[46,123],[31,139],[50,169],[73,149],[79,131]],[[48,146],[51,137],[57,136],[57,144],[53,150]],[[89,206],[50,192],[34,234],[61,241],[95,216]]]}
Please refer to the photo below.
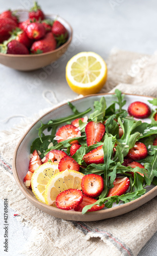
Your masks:
{"label": "strawberry piece crossed by arugula leaf at salad bowl's front edge", "polygon": [[[79,204],[76,208],[74,208],[75,211],[82,211],[82,209],[84,208],[84,206],[89,205],[89,204],[93,204],[97,202],[96,199],[92,198],[92,197],[87,197],[85,195],[83,195],[83,201],[81,204]],[[87,211],[96,211],[96,210],[101,210],[105,205],[102,204],[101,206],[99,206],[98,204],[92,206],[92,208],[90,210]]]}

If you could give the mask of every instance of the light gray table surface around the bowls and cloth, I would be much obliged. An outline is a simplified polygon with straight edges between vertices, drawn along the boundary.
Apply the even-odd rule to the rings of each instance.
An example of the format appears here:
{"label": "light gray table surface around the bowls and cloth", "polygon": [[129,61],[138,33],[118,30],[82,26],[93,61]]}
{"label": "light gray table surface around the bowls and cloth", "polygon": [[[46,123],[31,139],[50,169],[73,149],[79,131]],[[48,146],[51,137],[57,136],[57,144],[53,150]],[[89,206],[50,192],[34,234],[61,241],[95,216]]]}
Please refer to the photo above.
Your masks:
{"label": "light gray table surface around the bowls and cloth", "polygon": [[[77,96],[65,81],[66,63],[76,53],[94,51],[106,59],[113,47],[147,54],[153,54],[156,50],[155,0],[39,0],[38,3],[45,13],[58,14],[71,24],[74,30],[72,47],[66,52],[65,58],[61,57],[57,61],[58,67],[46,79],[40,79],[41,72],[46,72],[43,69],[19,72],[0,65],[0,130],[9,130],[20,122],[20,117],[2,122],[12,115],[31,116],[41,109],[49,108],[51,105],[42,98],[45,90],[55,92],[58,102]],[[31,6],[31,0],[1,0],[0,12],[8,8],[29,9]],[[30,84],[34,85],[34,89],[30,90]],[[14,213],[10,209],[10,250],[7,255],[17,256],[31,230],[17,222]],[[3,238],[0,241],[2,248]],[[154,234],[138,256],[155,256],[156,242]]]}

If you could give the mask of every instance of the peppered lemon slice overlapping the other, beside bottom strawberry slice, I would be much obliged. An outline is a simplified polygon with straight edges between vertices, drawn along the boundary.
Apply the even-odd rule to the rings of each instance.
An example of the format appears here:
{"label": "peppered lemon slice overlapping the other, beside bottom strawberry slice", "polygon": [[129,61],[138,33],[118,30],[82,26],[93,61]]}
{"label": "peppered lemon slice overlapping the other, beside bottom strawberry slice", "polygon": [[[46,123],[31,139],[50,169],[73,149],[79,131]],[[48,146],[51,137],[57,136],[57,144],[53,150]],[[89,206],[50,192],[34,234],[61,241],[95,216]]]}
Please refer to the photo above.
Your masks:
{"label": "peppered lemon slice overlapping the other, beside bottom strawberry slice", "polygon": [[76,170],[68,169],[54,175],[48,182],[44,193],[46,204],[55,206],[56,197],[66,189],[81,189],[81,180],[83,176],[84,174],[76,172]]}

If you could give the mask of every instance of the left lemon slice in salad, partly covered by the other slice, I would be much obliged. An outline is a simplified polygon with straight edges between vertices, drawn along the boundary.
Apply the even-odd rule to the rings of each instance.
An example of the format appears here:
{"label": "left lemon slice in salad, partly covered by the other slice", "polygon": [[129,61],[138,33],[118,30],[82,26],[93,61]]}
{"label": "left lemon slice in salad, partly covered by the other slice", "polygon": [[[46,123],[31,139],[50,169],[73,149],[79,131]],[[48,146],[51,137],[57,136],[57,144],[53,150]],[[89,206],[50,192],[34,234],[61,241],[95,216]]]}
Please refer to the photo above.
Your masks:
{"label": "left lemon slice in salad, partly covered by the other slice", "polygon": [[33,173],[31,178],[32,191],[40,202],[45,203],[44,191],[46,185],[51,177],[57,173],[59,173],[58,164],[51,162],[40,165]]}

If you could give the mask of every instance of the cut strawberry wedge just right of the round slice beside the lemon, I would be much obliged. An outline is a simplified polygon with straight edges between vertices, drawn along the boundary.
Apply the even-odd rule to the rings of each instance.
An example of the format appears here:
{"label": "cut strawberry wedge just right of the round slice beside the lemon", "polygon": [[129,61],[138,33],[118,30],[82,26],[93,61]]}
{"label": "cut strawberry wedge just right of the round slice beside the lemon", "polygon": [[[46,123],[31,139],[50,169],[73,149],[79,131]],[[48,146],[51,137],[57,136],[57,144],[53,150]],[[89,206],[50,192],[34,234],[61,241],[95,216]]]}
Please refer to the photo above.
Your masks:
{"label": "cut strawberry wedge just right of the round slice beside the lemon", "polygon": [[126,192],[126,190],[129,188],[129,185],[130,185],[129,178],[127,177],[116,178],[114,181],[114,187],[109,189],[107,197],[123,195]]}

